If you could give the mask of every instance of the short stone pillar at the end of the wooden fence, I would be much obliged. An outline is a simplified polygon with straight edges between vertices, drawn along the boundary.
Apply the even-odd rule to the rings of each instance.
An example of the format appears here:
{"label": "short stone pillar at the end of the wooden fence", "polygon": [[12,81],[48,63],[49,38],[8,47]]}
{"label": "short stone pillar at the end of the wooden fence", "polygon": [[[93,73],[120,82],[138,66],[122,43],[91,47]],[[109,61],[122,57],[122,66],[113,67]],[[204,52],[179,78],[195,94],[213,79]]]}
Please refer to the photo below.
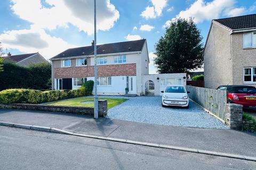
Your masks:
{"label": "short stone pillar at the end of the wooden fence", "polygon": [[241,130],[243,125],[243,105],[227,104],[226,123],[230,129]]}

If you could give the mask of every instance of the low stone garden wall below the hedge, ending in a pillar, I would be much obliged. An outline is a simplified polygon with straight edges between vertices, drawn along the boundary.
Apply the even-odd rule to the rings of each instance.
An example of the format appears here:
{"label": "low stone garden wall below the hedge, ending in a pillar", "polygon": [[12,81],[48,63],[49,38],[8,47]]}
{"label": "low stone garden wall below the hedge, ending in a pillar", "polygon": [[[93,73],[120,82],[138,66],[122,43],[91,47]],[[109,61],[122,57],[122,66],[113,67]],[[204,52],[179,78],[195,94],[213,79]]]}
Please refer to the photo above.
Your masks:
{"label": "low stone garden wall below the hedge, ending in a pillar", "polygon": [[[50,105],[36,105],[36,104],[0,104],[0,108],[4,109],[24,109],[30,111],[47,111],[72,113],[78,115],[94,115],[93,107],[81,106],[50,106]],[[108,113],[107,100],[99,100],[99,117],[105,117]]]}

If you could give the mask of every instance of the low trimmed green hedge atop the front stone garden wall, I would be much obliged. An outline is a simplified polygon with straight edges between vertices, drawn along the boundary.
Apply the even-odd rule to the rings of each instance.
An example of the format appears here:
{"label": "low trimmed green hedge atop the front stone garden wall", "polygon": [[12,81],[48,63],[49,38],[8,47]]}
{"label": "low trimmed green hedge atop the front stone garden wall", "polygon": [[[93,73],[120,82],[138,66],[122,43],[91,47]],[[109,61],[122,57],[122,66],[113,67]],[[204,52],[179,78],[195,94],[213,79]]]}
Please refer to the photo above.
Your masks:
{"label": "low trimmed green hedge atop the front stone garden wall", "polygon": [[93,81],[87,81],[76,90],[39,91],[32,89],[7,89],[0,91],[0,103],[39,104],[51,101],[89,96],[92,94]]}

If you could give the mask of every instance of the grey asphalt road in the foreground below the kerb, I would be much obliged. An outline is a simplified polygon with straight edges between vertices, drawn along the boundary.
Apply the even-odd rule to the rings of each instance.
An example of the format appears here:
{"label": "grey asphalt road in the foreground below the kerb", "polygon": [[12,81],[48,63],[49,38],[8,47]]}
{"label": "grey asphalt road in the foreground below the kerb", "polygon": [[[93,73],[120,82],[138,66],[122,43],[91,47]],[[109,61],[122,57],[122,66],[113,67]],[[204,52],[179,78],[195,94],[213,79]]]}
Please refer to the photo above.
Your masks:
{"label": "grey asphalt road in the foreground below the kerb", "polygon": [[256,162],[0,126],[0,169],[256,169]]}

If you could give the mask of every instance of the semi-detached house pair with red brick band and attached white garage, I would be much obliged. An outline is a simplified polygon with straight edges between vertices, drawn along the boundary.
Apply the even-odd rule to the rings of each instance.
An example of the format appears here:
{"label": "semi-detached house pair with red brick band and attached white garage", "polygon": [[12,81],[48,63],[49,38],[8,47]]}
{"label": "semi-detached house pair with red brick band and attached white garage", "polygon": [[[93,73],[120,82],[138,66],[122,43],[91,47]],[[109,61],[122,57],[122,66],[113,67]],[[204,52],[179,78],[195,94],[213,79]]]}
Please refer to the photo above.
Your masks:
{"label": "semi-detached house pair with red brick band and attached white garage", "polygon": [[[94,80],[94,42],[67,49],[50,59],[52,84],[56,90],[76,89]],[[149,74],[146,39],[97,45],[99,95],[161,95],[166,84],[186,85],[186,73]]]}

